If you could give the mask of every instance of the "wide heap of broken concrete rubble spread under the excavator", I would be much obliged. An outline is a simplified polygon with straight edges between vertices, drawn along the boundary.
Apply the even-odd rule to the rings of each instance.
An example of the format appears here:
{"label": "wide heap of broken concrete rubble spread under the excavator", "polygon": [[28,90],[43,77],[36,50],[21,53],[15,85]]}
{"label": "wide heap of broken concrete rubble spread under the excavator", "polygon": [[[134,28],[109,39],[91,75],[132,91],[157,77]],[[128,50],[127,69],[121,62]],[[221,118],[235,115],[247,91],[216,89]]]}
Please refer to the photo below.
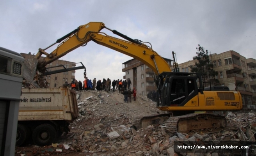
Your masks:
{"label": "wide heap of broken concrete rubble spread under the excavator", "polygon": [[[224,154],[208,150],[206,153],[182,152],[174,149],[174,141],[255,141],[256,112],[223,112],[227,117],[227,129],[219,133],[171,134],[165,125],[151,125],[134,129],[132,118],[165,113],[155,108],[156,103],[137,95],[137,101],[124,103],[117,92],[76,91],[78,118],[69,125],[71,132],[63,133],[56,144],[39,147],[16,147],[20,155],[93,155],[93,156],[220,156]],[[256,151],[256,150],[255,150]],[[229,154],[230,156],[232,154]]]}

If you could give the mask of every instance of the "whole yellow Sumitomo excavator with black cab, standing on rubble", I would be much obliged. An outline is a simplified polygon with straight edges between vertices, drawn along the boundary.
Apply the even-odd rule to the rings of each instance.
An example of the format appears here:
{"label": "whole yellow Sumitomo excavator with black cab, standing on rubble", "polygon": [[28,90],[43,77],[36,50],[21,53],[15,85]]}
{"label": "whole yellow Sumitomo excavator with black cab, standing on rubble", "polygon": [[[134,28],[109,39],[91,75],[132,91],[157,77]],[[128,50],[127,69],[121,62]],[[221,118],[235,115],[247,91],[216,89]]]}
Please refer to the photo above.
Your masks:
{"label": "whole yellow Sumitomo excavator with black cab, standing on rubble", "polygon": [[[112,31],[123,39],[100,32],[103,28]],[[107,28],[104,23],[90,22],[81,25],[69,34],[61,37],[36,54],[36,74],[34,80],[43,77],[46,65],[63,57],[89,41],[119,51],[142,61],[153,70],[157,86],[157,108],[166,111],[164,114],[136,117],[133,124],[144,128],[150,124],[165,124],[170,132],[189,133],[190,131],[219,131],[226,127],[226,118],[213,113],[194,113],[195,111],[241,110],[240,92],[229,91],[228,87],[211,86],[204,88],[201,73],[172,72],[170,66],[148,42],[132,39],[116,30]],[[46,50],[60,43],[51,53]],[[149,45],[147,45],[149,44]],[[42,55],[46,57],[42,58]],[[86,72],[84,73],[86,77]],[[37,82],[38,85],[40,83]],[[141,110],[143,111],[143,110]]]}

